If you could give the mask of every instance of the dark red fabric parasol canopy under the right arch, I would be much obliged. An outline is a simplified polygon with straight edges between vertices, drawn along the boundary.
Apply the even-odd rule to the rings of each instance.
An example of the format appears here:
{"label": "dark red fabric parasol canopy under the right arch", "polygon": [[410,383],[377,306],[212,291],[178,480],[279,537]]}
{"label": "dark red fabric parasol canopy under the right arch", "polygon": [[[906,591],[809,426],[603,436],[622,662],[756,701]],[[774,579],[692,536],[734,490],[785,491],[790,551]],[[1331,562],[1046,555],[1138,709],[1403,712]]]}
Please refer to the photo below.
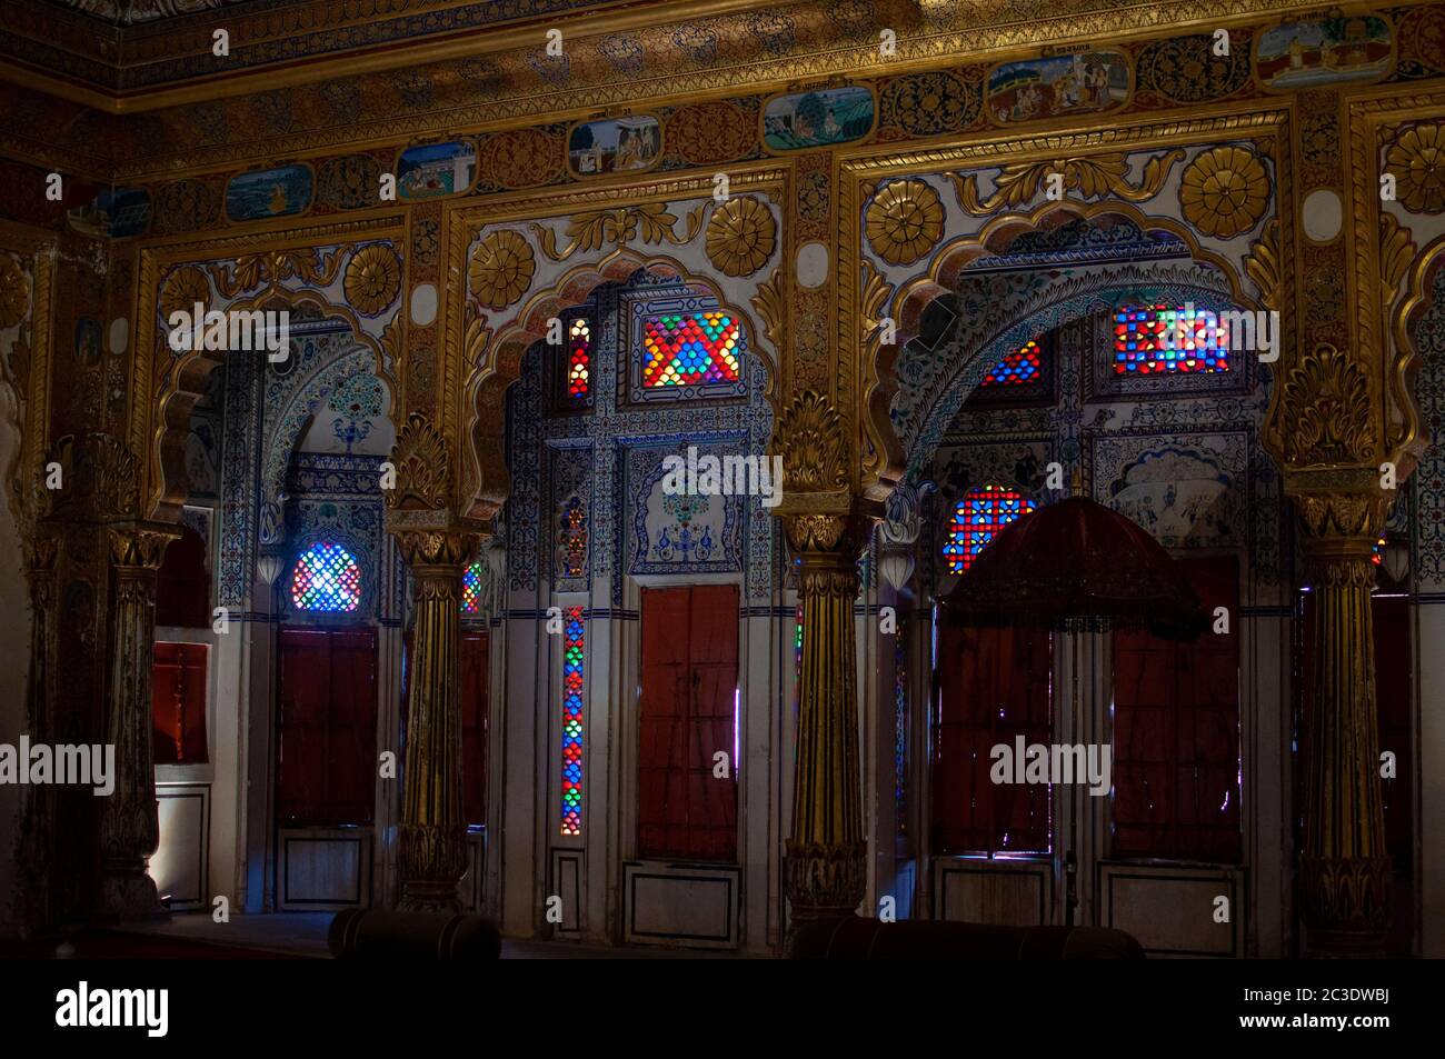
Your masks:
{"label": "dark red fabric parasol canopy under the right arch", "polygon": [[1004,526],[944,600],[959,626],[1149,628],[1192,640],[1208,618],[1178,563],[1143,529],[1087,497]]}

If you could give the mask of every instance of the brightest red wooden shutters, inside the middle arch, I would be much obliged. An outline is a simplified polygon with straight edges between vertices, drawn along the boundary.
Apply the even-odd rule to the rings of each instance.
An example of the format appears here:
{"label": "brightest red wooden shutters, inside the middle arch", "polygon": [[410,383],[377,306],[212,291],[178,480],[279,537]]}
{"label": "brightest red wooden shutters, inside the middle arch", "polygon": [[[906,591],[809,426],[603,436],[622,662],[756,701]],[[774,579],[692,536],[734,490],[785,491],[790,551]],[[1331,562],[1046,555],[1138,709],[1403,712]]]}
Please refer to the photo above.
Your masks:
{"label": "brightest red wooden shutters, inside the middle arch", "polygon": [[[733,585],[643,591],[643,857],[737,858],[737,620]],[[725,779],[714,774],[718,751],[727,754]]]}

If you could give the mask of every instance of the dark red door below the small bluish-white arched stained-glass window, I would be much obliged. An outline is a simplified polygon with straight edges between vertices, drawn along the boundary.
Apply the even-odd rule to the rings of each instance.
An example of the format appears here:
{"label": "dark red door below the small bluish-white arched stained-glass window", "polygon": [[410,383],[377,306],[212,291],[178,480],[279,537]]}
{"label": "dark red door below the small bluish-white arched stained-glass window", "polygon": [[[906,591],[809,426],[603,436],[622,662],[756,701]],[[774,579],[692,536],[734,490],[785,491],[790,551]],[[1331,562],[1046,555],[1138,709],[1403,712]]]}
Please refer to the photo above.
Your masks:
{"label": "dark red door below the small bluish-white arched stained-glass window", "polygon": [[280,631],[276,819],[371,824],[376,815],[376,631]]}

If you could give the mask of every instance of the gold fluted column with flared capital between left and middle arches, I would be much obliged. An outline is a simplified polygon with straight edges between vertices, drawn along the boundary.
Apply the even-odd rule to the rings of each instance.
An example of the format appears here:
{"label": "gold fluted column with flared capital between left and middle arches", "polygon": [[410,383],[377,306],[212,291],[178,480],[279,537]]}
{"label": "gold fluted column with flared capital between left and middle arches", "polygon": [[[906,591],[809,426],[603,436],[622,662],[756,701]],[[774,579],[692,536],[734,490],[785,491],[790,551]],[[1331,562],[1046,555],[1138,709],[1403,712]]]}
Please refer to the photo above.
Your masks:
{"label": "gold fluted column with flared capital between left and middle arches", "polygon": [[415,584],[402,792],[403,912],[461,912],[467,870],[461,803],[461,575],[475,537],[454,530],[393,530]]}

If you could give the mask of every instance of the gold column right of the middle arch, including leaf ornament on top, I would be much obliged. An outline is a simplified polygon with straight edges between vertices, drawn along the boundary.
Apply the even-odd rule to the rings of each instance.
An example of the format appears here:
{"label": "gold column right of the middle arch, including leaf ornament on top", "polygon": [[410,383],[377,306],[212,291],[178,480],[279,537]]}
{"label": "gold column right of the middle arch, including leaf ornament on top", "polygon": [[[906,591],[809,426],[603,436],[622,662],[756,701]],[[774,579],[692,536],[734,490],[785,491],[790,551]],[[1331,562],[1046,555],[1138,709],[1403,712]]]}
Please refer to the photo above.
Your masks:
{"label": "gold column right of the middle arch, including leaf ornament on top", "polygon": [[858,595],[855,497],[837,412],[808,392],[785,412],[783,519],[802,598],[802,672],[786,893],[793,922],[850,916],[863,900],[867,844],[858,773],[853,605]]}

